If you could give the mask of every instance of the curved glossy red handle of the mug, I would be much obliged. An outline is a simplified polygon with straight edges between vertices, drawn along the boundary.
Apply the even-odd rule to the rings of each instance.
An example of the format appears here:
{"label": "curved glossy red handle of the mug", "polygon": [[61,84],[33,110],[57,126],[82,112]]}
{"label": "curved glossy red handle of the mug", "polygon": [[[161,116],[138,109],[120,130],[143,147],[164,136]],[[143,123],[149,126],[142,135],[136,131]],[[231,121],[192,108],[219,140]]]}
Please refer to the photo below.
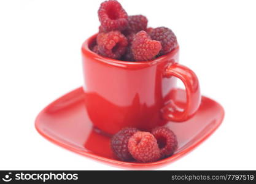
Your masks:
{"label": "curved glossy red handle of the mug", "polygon": [[165,69],[165,77],[177,77],[186,90],[187,102],[184,109],[176,108],[174,104],[166,105],[163,110],[163,118],[169,121],[185,121],[192,117],[201,103],[200,85],[196,74],[188,67],[174,63]]}

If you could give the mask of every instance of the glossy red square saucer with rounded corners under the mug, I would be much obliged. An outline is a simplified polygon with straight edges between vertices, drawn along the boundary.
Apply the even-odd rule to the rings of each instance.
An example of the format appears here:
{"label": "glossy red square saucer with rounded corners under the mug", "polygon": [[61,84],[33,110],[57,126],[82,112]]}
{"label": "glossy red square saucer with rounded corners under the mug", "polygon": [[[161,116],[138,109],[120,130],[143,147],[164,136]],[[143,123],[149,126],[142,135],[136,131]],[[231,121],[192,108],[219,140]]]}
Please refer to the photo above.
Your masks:
{"label": "glossy red square saucer with rounded corners under the mug", "polygon": [[[175,101],[185,103],[185,91],[176,90]],[[203,142],[219,127],[224,117],[220,104],[202,96],[198,112],[182,123],[169,122],[166,126],[177,135],[178,148],[173,156],[154,163],[119,161],[109,146],[110,137],[94,129],[83,103],[83,90],[78,88],[48,105],[36,118],[36,129],[46,139],[106,164],[126,169],[152,169],[169,164],[184,156]]]}

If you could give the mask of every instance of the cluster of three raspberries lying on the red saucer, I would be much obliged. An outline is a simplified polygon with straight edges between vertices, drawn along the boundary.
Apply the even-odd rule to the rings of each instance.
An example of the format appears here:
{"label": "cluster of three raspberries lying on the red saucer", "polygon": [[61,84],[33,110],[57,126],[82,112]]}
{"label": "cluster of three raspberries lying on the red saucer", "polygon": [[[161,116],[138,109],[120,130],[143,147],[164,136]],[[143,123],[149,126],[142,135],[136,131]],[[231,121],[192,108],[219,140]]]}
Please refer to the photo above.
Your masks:
{"label": "cluster of three raspberries lying on the red saucer", "polygon": [[137,128],[123,128],[112,137],[111,148],[122,161],[135,159],[148,163],[173,155],[177,139],[173,131],[165,126],[155,128],[151,133]]}

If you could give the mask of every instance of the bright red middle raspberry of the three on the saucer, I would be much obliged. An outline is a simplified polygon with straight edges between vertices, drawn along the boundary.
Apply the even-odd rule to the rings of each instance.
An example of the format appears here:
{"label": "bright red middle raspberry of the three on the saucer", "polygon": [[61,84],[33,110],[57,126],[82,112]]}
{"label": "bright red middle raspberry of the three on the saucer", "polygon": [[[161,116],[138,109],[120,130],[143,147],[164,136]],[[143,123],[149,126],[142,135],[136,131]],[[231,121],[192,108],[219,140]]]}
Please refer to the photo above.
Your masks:
{"label": "bright red middle raspberry of the three on the saucer", "polygon": [[139,162],[153,162],[160,158],[157,139],[149,132],[136,132],[128,141],[128,149]]}

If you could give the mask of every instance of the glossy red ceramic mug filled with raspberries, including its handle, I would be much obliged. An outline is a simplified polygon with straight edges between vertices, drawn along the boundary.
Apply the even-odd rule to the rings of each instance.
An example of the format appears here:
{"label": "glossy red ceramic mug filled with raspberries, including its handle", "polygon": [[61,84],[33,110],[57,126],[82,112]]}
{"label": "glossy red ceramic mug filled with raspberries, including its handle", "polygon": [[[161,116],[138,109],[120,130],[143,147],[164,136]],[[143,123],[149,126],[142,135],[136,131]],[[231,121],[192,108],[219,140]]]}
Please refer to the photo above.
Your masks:
{"label": "glossy red ceramic mug filled with raspberries, including its handle", "polygon": [[[201,102],[195,73],[182,66],[179,47],[153,61],[128,62],[105,58],[89,48],[96,35],[82,45],[85,107],[94,126],[115,134],[124,127],[150,131],[167,121],[185,121]],[[182,80],[187,103],[172,101],[176,79]]]}

